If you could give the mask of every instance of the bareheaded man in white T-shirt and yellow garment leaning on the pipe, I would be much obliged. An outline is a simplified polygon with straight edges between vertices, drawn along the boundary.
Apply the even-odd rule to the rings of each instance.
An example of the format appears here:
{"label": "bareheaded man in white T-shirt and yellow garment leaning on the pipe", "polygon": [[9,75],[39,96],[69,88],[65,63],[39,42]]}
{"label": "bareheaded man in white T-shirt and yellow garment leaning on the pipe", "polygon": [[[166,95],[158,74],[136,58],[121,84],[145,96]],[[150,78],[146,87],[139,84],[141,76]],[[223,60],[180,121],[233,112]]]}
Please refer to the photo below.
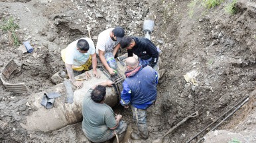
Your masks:
{"label": "bareheaded man in white T-shirt and yellow garment leaning on the pipe", "polygon": [[[93,74],[99,78],[97,73],[97,57],[94,42],[90,38],[82,38],[68,45],[61,51],[62,60],[65,63],[68,76],[74,86],[82,88],[82,82],[76,81],[74,71],[88,71],[93,69]],[[74,71],[73,71],[74,70]],[[86,76],[90,76],[86,72]]]}

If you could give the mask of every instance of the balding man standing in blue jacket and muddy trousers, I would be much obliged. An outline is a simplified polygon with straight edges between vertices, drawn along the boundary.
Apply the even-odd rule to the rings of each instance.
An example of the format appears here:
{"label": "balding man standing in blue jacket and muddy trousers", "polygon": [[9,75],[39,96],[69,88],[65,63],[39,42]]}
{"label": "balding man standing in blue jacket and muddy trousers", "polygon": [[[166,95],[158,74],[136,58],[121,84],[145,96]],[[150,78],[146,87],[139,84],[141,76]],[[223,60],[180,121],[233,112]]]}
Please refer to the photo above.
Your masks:
{"label": "balding man standing in blue jacket and muddy trousers", "polygon": [[149,138],[147,130],[147,108],[157,100],[157,72],[150,66],[142,67],[135,57],[126,60],[125,81],[121,92],[121,105],[128,108],[131,103],[133,119],[139,132],[133,132],[133,140]]}

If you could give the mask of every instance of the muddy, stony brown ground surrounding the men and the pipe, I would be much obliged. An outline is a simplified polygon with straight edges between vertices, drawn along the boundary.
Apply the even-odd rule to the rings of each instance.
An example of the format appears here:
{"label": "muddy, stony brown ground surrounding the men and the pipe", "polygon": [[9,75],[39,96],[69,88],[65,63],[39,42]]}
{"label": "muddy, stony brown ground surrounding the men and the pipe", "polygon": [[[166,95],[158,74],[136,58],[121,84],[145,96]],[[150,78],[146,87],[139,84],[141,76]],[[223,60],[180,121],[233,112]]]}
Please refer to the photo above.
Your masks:
{"label": "muddy, stony brown ground surrounding the men and the pipe", "polygon": [[[96,44],[97,35],[114,26],[123,26],[126,35],[143,36],[143,20],[151,18],[155,21],[152,41],[162,50],[162,69],[167,72],[166,80],[158,86],[157,104],[148,109],[150,138],[136,142],[151,142],[198,111],[198,117],[186,121],[164,140],[187,142],[246,96],[249,101],[218,130],[208,134],[205,142],[256,142],[256,1],[237,1],[236,14],[224,10],[230,1],[210,10],[200,2],[189,8],[189,3],[2,0],[1,24],[12,16],[19,24],[19,41],[29,40],[34,51],[23,53],[12,45],[9,34],[0,30],[1,71],[8,61],[17,59],[23,64],[22,70],[12,75],[9,82],[25,82],[29,88],[27,94],[14,94],[0,82],[0,141],[88,142],[82,133],[82,123],[52,132],[23,129],[20,123],[36,110],[28,102],[29,95],[54,86],[50,77],[64,70],[60,50],[78,38],[88,37],[88,27],[92,28],[90,34]],[[199,72],[195,78],[198,86],[192,87],[183,75],[194,70]],[[131,109],[117,111],[131,129],[136,129]]]}

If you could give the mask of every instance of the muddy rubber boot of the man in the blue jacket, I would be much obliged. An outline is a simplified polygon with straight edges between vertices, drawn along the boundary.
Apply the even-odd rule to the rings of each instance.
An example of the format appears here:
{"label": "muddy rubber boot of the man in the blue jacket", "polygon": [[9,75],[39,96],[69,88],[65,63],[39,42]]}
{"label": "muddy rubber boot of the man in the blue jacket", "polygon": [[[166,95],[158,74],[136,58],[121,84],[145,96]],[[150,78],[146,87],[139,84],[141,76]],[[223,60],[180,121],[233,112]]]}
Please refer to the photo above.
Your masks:
{"label": "muddy rubber boot of the man in the blue jacket", "polygon": [[148,133],[146,124],[138,125],[138,130],[139,130],[138,133],[136,132],[131,133],[131,138],[133,140],[147,140],[149,138],[149,133]]}

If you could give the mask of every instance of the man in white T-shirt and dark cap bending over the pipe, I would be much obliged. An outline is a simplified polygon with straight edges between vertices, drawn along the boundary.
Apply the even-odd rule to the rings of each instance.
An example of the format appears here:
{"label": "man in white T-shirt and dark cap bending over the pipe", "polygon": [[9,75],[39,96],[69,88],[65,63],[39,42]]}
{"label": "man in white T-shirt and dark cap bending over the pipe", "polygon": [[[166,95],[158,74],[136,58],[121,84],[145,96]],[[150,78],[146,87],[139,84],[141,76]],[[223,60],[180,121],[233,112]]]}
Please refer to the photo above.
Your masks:
{"label": "man in white T-shirt and dark cap bending over the pipe", "polygon": [[108,61],[105,56],[109,55],[109,53],[111,57],[115,57],[115,55],[117,55],[117,51],[120,48],[119,42],[124,35],[125,30],[120,26],[117,26],[115,28],[104,30],[97,38],[96,51],[101,63],[103,63],[109,74],[115,74],[115,69],[107,63]]}

